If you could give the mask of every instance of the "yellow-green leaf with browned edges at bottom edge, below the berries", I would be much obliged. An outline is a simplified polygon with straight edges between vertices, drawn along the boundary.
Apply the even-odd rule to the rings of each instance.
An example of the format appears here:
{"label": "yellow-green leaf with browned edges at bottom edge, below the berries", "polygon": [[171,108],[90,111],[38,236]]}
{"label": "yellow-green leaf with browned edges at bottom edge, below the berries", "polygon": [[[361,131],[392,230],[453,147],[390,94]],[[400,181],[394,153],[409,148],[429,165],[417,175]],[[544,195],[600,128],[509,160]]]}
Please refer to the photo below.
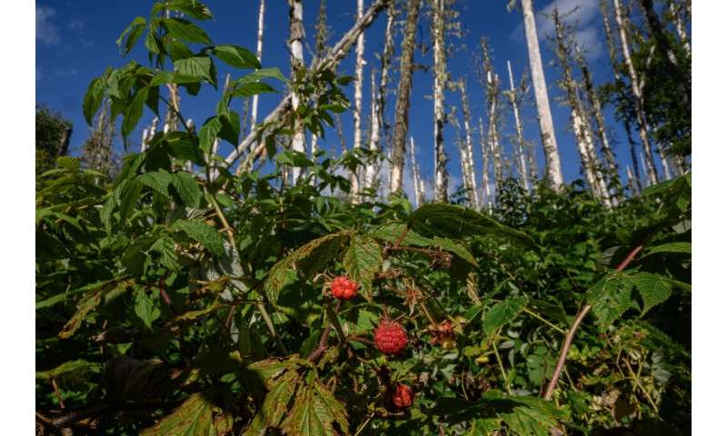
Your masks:
{"label": "yellow-green leaf with browned edges at bottom edge, below the berries", "polygon": [[348,421],[344,405],[319,382],[304,386],[295,396],[291,410],[281,426],[291,436],[337,435],[337,422],[344,434],[348,433]]}

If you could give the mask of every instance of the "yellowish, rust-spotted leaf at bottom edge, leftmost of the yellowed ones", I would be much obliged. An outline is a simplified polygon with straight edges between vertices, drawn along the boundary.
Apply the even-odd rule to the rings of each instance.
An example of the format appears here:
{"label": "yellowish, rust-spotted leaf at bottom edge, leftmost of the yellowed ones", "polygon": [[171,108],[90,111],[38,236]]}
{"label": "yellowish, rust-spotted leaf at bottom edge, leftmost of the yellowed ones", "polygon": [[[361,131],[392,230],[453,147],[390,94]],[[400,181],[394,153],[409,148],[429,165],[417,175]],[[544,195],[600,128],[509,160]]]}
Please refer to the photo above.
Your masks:
{"label": "yellowish, rust-spotted leaf at bottom edge, leftmost of the yellowed ones", "polygon": [[165,416],[154,427],[144,429],[142,436],[211,436],[217,434],[212,421],[214,404],[203,393],[194,393],[171,415]]}

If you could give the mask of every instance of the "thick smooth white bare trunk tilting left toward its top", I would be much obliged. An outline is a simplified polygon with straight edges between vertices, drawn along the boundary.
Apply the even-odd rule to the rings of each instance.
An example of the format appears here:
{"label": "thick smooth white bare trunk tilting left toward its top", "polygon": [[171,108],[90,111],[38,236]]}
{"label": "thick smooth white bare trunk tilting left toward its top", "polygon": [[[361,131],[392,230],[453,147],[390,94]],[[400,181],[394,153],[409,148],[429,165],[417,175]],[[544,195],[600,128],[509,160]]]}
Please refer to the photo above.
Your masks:
{"label": "thick smooth white bare trunk tilting left toward its top", "polygon": [[553,187],[559,190],[563,186],[561,156],[558,154],[558,144],[555,141],[553,117],[548,100],[548,86],[545,84],[543,60],[540,54],[540,45],[538,44],[538,31],[535,27],[533,0],[521,0],[521,3],[523,6],[525,39],[528,43],[528,57],[530,58],[530,74],[533,76],[533,90],[535,92],[541,141],[543,142],[543,152],[545,154],[546,173]]}

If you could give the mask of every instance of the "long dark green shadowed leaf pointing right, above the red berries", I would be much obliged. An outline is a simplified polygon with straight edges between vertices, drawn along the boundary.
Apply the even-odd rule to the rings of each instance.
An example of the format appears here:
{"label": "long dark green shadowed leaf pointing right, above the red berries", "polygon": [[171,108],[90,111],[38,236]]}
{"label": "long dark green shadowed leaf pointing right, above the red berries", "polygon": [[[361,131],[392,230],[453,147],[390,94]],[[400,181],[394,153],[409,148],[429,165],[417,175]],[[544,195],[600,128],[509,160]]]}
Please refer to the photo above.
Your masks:
{"label": "long dark green shadowed leaf pointing right, above the red berries", "polygon": [[526,247],[535,243],[527,234],[494,221],[483,213],[462,206],[427,203],[410,216],[412,230],[424,236],[462,239],[466,236],[497,236]]}

